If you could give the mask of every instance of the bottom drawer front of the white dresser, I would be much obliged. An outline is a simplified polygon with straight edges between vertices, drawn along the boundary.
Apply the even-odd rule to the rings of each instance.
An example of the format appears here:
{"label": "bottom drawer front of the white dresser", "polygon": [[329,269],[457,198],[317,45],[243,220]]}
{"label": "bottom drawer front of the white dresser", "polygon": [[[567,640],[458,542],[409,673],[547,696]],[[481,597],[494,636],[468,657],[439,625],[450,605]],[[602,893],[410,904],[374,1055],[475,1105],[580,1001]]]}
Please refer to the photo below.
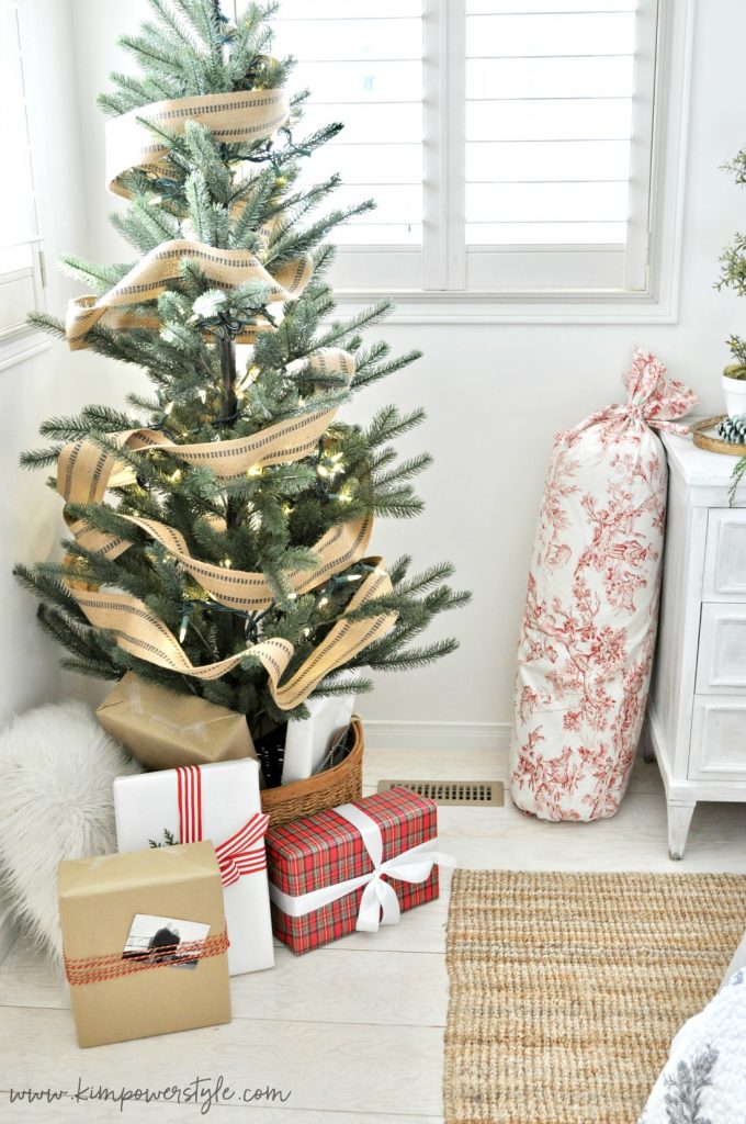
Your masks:
{"label": "bottom drawer front of the white dresser", "polygon": [[694,696],[690,780],[746,780],[746,698]]}

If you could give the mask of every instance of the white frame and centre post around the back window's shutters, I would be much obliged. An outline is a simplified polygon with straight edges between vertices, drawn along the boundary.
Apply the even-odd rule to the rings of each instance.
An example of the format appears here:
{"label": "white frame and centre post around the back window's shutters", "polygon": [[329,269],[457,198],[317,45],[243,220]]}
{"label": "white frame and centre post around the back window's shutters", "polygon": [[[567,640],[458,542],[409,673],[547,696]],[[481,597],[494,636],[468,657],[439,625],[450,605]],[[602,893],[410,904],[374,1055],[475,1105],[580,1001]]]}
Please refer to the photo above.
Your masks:
{"label": "white frame and centre post around the back window's shutters", "polygon": [[[626,290],[466,288],[467,253],[495,262],[517,253],[530,272],[530,256],[567,266],[572,254],[621,254],[610,246],[467,247],[463,239],[465,196],[465,0],[424,0],[424,133],[426,237],[421,288],[365,288],[347,278],[380,277],[388,256],[394,278],[411,278],[419,252],[397,245],[349,245],[338,250],[335,294],[340,305],[362,307],[381,297],[397,302],[394,321],[422,323],[616,323],[673,324],[679,312],[680,247],[686,158],[689,88],[694,0],[640,0],[638,28],[655,52],[636,62],[630,179],[630,237],[625,256]],[[638,33],[639,34],[639,33]],[[454,90],[461,96],[454,98]],[[451,97],[449,97],[451,94]],[[440,112],[439,107],[445,107]],[[649,140],[649,145],[648,145]],[[461,216],[457,218],[457,216]],[[342,285],[342,287],[340,287]]]}

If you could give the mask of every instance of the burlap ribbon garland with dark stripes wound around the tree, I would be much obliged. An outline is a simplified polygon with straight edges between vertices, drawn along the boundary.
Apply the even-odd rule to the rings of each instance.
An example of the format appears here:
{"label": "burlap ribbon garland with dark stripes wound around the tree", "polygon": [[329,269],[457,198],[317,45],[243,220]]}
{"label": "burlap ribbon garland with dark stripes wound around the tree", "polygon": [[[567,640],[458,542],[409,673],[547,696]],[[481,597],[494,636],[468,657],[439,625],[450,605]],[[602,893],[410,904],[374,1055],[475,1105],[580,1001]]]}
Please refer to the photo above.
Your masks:
{"label": "burlap ribbon garland with dark stripes wound around the tree", "polygon": [[[218,139],[243,143],[271,136],[286,120],[288,112],[289,102],[284,90],[260,90],[183,98],[126,114],[108,126],[107,167],[110,188],[116,193],[126,196],[127,191],[117,182],[117,178],[131,167],[142,167],[153,174],[169,173],[167,164],[162,162],[167,148],[153,140],[153,133],[143,124],[144,120],[172,133],[183,132],[188,120],[198,120],[207,125]],[[84,347],[88,333],[98,323],[121,329],[157,326],[156,317],[133,312],[129,310],[130,306],[155,300],[166,292],[170,284],[181,275],[181,263],[186,260],[197,262],[202,272],[222,289],[235,288],[251,279],[263,282],[267,285],[267,303],[298,297],[312,273],[311,262],[307,257],[284,265],[272,275],[258,259],[245,251],[217,250],[186,239],[167,242],[146,254],[103,297],[83,297],[71,303],[66,326],[71,350]],[[255,330],[249,329],[244,336],[239,336],[239,342],[252,342]],[[347,383],[355,373],[353,356],[339,348],[319,348],[309,356],[309,366],[327,377],[339,374]],[[133,470],[117,456],[116,448],[126,448],[129,453],[169,453],[186,464],[209,468],[220,479],[242,475],[256,466],[298,461],[315,451],[335,415],[334,409],[309,411],[300,417],[279,422],[249,437],[193,445],[180,445],[155,429],[109,434],[108,443],[115,447],[113,451],[102,448],[90,439],[73,442],[60,453],[57,490],[66,504],[90,504],[101,502],[109,488],[131,483]],[[234,571],[194,559],[183,535],[157,520],[125,515],[120,518],[165,546],[218,604],[254,611],[273,602],[273,592],[264,574]],[[130,540],[95,531],[84,520],[71,522],[70,526],[78,544],[109,559],[118,558],[133,545]],[[371,528],[370,517],[331,528],[313,547],[319,558],[318,565],[313,570],[291,571],[285,575],[290,588],[297,595],[308,592],[352,563],[361,561],[370,541]],[[370,572],[361,579],[348,605],[348,613],[392,591],[391,579],[382,560],[371,558],[365,561]],[[294,654],[294,647],[289,641],[270,637],[225,660],[194,667],[173,633],[144,601],[127,593],[102,592],[88,584],[82,574],[76,578],[75,562],[70,555],[65,560],[65,569],[67,588],[88,620],[93,627],[110,632],[124,651],[157,667],[202,680],[225,676],[251,654],[265,668],[272,697],[285,710],[303,703],[329,672],[385,635],[398,616],[397,613],[383,611],[357,622],[347,618],[337,622],[281,687],[280,679]]]}

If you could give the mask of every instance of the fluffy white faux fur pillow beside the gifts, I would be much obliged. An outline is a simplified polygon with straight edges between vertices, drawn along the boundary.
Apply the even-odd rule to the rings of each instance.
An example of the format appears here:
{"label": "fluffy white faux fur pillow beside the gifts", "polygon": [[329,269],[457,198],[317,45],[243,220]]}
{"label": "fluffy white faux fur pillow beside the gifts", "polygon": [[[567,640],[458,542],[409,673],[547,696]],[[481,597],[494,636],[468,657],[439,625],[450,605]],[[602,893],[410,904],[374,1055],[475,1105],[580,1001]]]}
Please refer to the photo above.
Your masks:
{"label": "fluffy white faux fur pillow beside the gifts", "polygon": [[0,733],[1,892],[55,961],[57,863],[117,850],[112,781],[142,771],[80,703],[39,707]]}

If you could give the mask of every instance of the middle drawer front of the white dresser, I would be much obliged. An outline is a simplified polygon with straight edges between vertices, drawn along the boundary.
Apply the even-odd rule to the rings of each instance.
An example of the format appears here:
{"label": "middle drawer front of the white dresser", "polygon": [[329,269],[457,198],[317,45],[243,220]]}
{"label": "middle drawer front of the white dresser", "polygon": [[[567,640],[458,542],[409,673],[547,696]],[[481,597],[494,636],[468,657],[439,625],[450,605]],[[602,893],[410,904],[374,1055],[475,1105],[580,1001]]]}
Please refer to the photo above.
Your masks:
{"label": "middle drawer front of the white dresser", "polygon": [[746,696],[746,601],[702,606],[697,691]]}

